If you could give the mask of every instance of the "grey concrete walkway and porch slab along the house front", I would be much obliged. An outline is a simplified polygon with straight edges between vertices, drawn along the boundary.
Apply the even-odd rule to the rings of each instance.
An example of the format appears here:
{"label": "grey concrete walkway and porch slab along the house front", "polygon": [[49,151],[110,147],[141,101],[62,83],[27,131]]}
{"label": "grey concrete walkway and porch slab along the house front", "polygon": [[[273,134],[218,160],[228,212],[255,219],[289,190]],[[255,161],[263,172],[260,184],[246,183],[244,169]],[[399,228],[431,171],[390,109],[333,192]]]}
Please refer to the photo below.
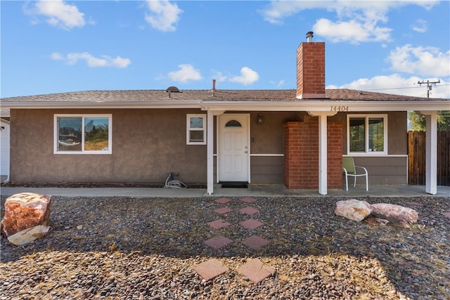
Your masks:
{"label": "grey concrete walkway and porch slab along the house front", "polygon": [[[17,193],[39,193],[63,197],[208,197],[205,188],[11,188],[1,187],[2,196]],[[288,190],[284,185],[252,185],[248,188],[221,188],[214,185],[212,197],[450,197],[450,186],[439,186],[436,195],[425,193],[424,185],[372,185],[366,192],[364,186],[349,187],[347,192],[328,190],[319,195],[318,190]]]}

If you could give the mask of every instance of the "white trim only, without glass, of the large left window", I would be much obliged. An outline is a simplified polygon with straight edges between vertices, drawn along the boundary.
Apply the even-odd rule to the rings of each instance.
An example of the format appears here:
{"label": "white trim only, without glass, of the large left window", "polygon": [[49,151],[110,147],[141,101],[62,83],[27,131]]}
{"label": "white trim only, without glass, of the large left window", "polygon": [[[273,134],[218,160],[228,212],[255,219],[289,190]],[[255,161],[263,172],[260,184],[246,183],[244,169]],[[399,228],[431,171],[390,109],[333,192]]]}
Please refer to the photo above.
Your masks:
{"label": "white trim only, without glass, of the large left window", "polygon": [[[59,117],[81,117],[82,118],[82,150],[81,151],[59,151],[58,150],[58,118]],[[84,150],[84,118],[86,117],[103,117],[108,118],[108,150]],[[53,116],[53,154],[69,154],[69,155],[105,155],[113,153],[113,115],[112,114],[58,114]]]}

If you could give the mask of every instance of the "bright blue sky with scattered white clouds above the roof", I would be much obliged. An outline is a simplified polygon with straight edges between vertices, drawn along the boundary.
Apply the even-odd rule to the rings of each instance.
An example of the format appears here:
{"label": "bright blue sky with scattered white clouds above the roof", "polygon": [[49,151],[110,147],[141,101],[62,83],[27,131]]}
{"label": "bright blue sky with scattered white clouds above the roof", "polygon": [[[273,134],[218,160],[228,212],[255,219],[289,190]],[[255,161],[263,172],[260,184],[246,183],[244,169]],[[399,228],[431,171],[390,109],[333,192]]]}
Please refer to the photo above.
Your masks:
{"label": "bright blue sky with scattered white clouds above the roof", "polygon": [[295,89],[326,42],[326,87],[450,98],[449,1],[0,1],[0,96]]}

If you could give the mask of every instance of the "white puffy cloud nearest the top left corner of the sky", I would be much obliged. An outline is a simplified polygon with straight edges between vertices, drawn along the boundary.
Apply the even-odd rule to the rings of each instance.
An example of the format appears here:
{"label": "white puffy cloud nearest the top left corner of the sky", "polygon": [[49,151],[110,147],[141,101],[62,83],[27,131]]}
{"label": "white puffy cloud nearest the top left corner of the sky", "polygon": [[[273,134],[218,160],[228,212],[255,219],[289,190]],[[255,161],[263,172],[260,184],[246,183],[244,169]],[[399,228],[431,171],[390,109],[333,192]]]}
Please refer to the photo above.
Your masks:
{"label": "white puffy cloud nearest the top left corner of the sky", "polygon": [[86,24],[84,13],[79,12],[77,6],[66,4],[63,0],[37,1],[32,9],[24,6],[24,11],[30,15],[44,15],[50,25],[65,30]]}

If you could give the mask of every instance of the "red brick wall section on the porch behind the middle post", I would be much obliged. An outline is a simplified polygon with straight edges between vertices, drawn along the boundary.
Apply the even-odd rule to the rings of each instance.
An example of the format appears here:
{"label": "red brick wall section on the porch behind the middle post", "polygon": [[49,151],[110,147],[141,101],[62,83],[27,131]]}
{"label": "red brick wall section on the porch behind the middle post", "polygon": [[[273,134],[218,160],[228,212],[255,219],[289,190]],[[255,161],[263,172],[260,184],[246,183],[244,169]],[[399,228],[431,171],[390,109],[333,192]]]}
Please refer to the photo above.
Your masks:
{"label": "red brick wall section on the porch behind the middle post", "polygon": [[[330,122],[328,132],[328,188],[342,188],[342,124]],[[286,122],[284,183],[288,189],[319,188],[319,119]]]}

